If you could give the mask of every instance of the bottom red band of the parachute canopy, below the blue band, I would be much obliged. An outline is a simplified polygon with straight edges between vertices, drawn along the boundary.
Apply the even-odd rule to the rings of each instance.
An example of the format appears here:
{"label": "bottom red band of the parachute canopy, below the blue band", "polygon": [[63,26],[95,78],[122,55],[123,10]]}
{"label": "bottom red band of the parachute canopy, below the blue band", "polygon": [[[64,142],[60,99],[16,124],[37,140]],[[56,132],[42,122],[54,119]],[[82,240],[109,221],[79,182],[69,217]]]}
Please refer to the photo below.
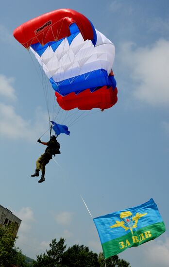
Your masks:
{"label": "bottom red band of the parachute canopy, below the blue band", "polygon": [[78,108],[80,110],[90,110],[92,108],[100,108],[104,110],[110,108],[118,101],[118,89],[113,90],[112,87],[107,88],[103,86],[100,89],[90,92],[90,89],[86,89],[78,95],[70,93],[65,97],[55,92],[57,102],[64,110],[70,110]]}

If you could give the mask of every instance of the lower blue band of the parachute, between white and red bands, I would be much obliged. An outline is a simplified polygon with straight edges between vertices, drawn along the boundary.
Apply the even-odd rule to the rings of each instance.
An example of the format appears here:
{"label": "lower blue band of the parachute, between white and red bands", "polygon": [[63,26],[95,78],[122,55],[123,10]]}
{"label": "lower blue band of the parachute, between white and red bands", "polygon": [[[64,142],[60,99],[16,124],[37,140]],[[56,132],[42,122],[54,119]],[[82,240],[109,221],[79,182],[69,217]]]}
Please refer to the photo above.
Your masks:
{"label": "lower blue band of the parachute, between white and red bands", "polygon": [[[66,96],[72,92],[76,94],[85,89],[91,88],[91,91],[96,90],[97,87],[104,85],[116,87],[116,80],[114,76],[108,76],[107,71],[104,69],[97,69],[85,74],[72,77],[60,82],[55,82],[53,78],[50,78],[53,89],[61,96]],[[93,88],[93,89],[92,89]]]}

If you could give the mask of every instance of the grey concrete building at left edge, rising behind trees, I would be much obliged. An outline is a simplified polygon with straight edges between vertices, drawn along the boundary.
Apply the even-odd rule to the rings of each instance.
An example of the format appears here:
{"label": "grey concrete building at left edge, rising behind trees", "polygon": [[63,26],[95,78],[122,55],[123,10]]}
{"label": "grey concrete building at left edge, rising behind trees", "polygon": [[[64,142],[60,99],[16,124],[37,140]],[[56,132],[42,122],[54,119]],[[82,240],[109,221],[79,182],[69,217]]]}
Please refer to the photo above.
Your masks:
{"label": "grey concrete building at left edge, rising behind trees", "polygon": [[15,216],[10,210],[0,205],[0,227],[3,227],[3,225],[5,224],[10,224],[11,222],[13,222],[16,226],[15,235],[17,235],[21,220],[17,216]]}

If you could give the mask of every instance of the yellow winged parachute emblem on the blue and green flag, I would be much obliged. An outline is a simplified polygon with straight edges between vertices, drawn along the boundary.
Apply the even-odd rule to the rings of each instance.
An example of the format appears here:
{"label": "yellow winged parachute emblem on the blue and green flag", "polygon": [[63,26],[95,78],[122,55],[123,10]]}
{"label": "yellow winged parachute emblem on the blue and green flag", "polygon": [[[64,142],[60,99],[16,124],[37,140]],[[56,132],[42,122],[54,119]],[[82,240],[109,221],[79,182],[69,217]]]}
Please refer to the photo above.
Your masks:
{"label": "yellow winged parachute emblem on the blue and green flag", "polygon": [[138,220],[145,215],[147,215],[147,213],[141,214],[137,212],[135,216],[133,216],[130,211],[121,212],[120,218],[122,220],[116,221],[116,223],[110,226],[110,228],[122,227],[125,231],[128,231],[130,229],[133,234],[133,228],[137,227]]}

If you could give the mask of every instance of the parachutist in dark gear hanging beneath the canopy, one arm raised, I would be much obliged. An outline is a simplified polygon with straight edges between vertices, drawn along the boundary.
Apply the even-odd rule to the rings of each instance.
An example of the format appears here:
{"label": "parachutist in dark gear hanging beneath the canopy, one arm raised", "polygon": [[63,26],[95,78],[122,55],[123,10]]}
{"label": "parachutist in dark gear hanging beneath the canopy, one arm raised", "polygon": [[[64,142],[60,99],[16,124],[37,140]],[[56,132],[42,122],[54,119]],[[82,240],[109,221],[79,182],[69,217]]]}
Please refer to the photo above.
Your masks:
{"label": "parachutist in dark gear hanging beneath the canopy, one arm raised", "polygon": [[41,170],[42,176],[38,183],[42,183],[45,181],[45,166],[52,159],[52,155],[55,156],[55,154],[60,154],[60,144],[57,142],[55,135],[52,135],[48,142],[42,142],[40,139],[38,139],[37,142],[47,146],[47,148],[45,153],[37,159],[35,173],[32,174],[31,177],[38,177],[39,171]]}

